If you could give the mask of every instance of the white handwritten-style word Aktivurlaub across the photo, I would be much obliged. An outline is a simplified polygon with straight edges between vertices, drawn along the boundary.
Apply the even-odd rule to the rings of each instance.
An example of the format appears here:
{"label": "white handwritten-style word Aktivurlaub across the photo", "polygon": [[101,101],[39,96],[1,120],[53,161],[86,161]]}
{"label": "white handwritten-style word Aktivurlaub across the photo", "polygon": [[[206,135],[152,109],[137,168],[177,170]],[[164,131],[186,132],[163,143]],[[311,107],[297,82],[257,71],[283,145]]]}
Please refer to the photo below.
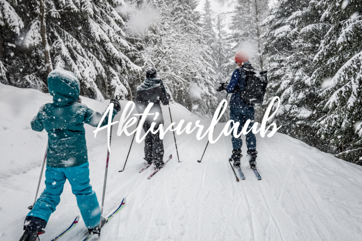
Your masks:
{"label": "white handwritten-style word Aktivurlaub across the photo", "polygon": [[[275,101],[277,100],[277,103],[275,103]],[[95,138],[97,137],[97,133],[99,131],[102,131],[103,129],[106,129],[107,128],[107,131],[108,131],[108,150],[111,152],[110,150],[110,135],[111,135],[111,126],[118,124],[118,130],[117,130],[117,136],[121,136],[122,133],[124,133],[126,136],[131,136],[132,134],[134,134],[136,132],[136,142],[137,143],[141,143],[147,136],[147,134],[149,132],[153,133],[153,134],[156,134],[157,132],[159,132],[159,137],[161,140],[163,140],[163,137],[164,135],[168,132],[168,131],[171,131],[171,132],[175,132],[176,135],[181,135],[182,133],[186,132],[186,134],[191,134],[193,133],[196,129],[198,129],[197,131],[197,135],[196,135],[196,139],[198,141],[202,140],[207,134],[208,135],[208,138],[209,138],[209,142],[211,144],[214,144],[216,143],[222,135],[225,135],[225,136],[229,136],[231,133],[232,135],[235,137],[235,138],[239,138],[241,135],[246,135],[248,134],[250,131],[253,133],[253,134],[257,134],[258,132],[260,132],[260,136],[263,138],[265,137],[265,134],[266,132],[270,129],[270,127],[273,127],[273,130],[270,131],[270,133],[267,135],[267,137],[272,137],[282,126],[278,127],[277,128],[277,124],[275,123],[272,123],[270,124],[267,128],[266,127],[266,124],[267,122],[273,118],[273,116],[277,113],[278,109],[279,109],[279,106],[280,106],[280,98],[278,96],[275,96],[272,101],[270,101],[265,113],[264,113],[264,116],[263,116],[263,119],[262,119],[262,122],[261,122],[261,126],[260,128],[258,129],[258,123],[255,122],[253,124],[253,126],[251,127],[251,129],[249,131],[247,131],[248,129],[248,126],[250,124],[250,119],[248,119],[245,123],[245,125],[243,126],[242,128],[242,131],[238,134],[237,133],[237,130],[240,126],[240,123],[239,122],[234,122],[232,120],[228,121],[226,124],[225,124],[225,127],[224,129],[222,130],[222,132],[219,134],[219,136],[214,140],[213,139],[213,134],[214,134],[214,128],[216,126],[216,124],[219,122],[221,116],[224,114],[225,110],[226,110],[226,107],[222,109],[221,111],[221,114],[219,115],[218,117],[218,113],[220,112],[222,106],[226,104],[225,106],[227,106],[227,100],[226,99],[223,99],[219,106],[217,107],[217,109],[215,110],[215,113],[214,113],[214,116],[212,118],[212,121],[211,121],[211,125],[210,127],[205,131],[205,133],[202,135],[202,132],[204,130],[204,126],[203,125],[200,125],[200,121],[197,121],[195,123],[195,127],[193,129],[192,126],[192,122],[189,122],[186,127],[183,129],[183,126],[184,126],[184,123],[185,123],[185,120],[182,119],[178,125],[176,126],[176,123],[171,123],[171,125],[169,125],[166,130],[163,129],[163,124],[160,124],[159,125],[159,128],[157,130],[153,130],[154,127],[156,126],[156,123],[153,122],[151,124],[151,127],[150,129],[148,129],[147,133],[141,138],[141,132],[142,132],[142,126],[146,120],[146,117],[148,115],[155,115],[155,118],[157,118],[157,116],[159,115],[158,112],[156,113],[149,113],[151,107],[153,106],[153,103],[149,103],[147,108],[145,109],[145,111],[142,113],[142,114],[133,114],[133,115],[136,115],[136,116],[141,116],[141,120],[140,120],[140,125],[138,125],[138,127],[132,131],[132,132],[128,132],[128,128],[133,126],[136,122],[137,122],[137,117],[131,117],[129,119],[129,116],[131,115],[131,112],[133,111],[134,107],[135,107],[135,103],[133,101],[129,101],[123,112],[122,112],[122,115],[121,115],[121,118],[120,118],[120,121],[119,122],[112,122],[112,110],[113,110],[113,103],[111,103],[106,112],[104,113],[102,119],[101,119],[101,122],[100,124],[98,125],[97,129],[93,132],[95,133]],[[272,107],[277,104],[277,107],[276,109],[274,110],[274,112],[272,113],[272,115],[269,116],[269,113],[270,111],[272,110]],[[108,124],[104,127],[100,127],[101,126],[101,123],[103,122],[104,118],[107,116],[107,114],[109,113],[109,118],[108,118]],[[230,128],[230,124],[231,123],[234,123],[234,126],[229,130]],[[176,126],[174,128],[174,126]]]}

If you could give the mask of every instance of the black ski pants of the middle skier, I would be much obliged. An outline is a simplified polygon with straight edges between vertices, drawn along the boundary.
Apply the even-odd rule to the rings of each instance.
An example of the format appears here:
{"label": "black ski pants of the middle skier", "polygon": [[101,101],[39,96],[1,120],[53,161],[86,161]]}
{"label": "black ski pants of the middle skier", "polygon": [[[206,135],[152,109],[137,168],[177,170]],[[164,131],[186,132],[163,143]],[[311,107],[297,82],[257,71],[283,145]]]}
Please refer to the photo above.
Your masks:
{"label": "black ski pants of the middle skier", "polygon": [[[158,126],[159,125],[155,126],[155,130],[158,129]],[[145,133],[148,131],[148,129],[150,129],[150,127],[151,123],[145,122],[143,124],[143,130],[145,131]],[[159,132],[157,132],[156,134],[152,134],[151,132],[149,132],[147,134],[145,138],[144,151],[147,161],[163,161],[163,140],[159,138]]]}

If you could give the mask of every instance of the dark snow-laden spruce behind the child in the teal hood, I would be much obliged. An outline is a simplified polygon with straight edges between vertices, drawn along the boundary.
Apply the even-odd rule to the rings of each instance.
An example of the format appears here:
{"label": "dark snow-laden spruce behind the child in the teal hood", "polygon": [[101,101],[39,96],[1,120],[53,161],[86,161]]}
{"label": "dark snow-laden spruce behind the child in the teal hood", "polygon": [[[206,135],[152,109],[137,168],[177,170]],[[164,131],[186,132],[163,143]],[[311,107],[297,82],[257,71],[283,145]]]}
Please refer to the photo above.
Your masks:
{"label": "dark snow-laden spruce behind the child in the teal hood", "polygon": [[[125,40],[124,19],[115,11],[123,2],[44,0],[43,3],[52,67],[74,72],[80,80],[82,95],[103,99],[118,94],[131,99],[127,75],[139,67],[127,57],[133,46]],[[14,85],[46,91],[47,66],[41,46],[39,4],[29,0],[13,6],[25,23],[25,31],[20,38],[10,37],[18,51],[7,58],[7,77]]]}

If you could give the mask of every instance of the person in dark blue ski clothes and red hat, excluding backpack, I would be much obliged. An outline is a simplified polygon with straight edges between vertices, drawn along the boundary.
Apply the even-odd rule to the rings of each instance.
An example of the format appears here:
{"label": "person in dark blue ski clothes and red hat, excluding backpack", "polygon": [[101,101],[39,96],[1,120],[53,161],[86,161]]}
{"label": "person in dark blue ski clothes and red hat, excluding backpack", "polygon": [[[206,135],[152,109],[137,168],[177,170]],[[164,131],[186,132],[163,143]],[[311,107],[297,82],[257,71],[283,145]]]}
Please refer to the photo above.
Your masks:
{"label": "person in dark blue ski clothes and red hat, excluding backpack", "polygon": [[[242,99],[241,93],[245,90],[246,85],[246,71],[245,69],[254,69],[250,62],[249,56],[247,53],[243,51],[239,51],[235,55],[235,63],[238,65],[238,68],[232,73],[229,84],[225,87],[222,84],[217,91],[226,90],[228,93],[232,93],[230,100],[230,119],[234,122],[239,122],[238,134],[241,132],[242,127],[245,122],[250,119],[251,123],[249,124],[247,131],[249,131],[254,123],[254,104],[253,103],[245,103]],[[231,124],[233,127],[233,124]],[[240,158],[241,155],[241,146],[242,140],[241,138],[231,137],[233,150],[231,160],[234,162],[235,167],[240,167]],[[256,139],[255,135],[250,131],[246,134],[246,146],[247,146],[247,154],[250,155],[249,165],[251,167],[256,166]]]}

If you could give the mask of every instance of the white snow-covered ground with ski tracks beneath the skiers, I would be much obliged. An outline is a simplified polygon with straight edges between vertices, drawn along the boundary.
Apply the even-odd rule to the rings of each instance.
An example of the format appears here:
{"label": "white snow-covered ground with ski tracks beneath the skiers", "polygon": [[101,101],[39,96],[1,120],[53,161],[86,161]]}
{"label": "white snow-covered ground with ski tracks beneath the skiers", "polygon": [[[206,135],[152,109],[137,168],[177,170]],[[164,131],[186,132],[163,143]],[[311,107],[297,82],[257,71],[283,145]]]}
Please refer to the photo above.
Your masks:
{"label": "white snow-covered ground with ski tracks beneath the skiers", "polygon": [[[46,147],[47,135],[31,130],[39,107],[51,102],[49,94],[0,84],[0,240],[18,240],[27,207],[33,203]],[[102,103],[82,97],[84,103],[103,112]],[[122,107],[126,101],[121,102]],[[179,104],[171,104],[172,119],[196,122],[200,117]],[[163,107],[165,124],[170,119]],[[119,119],[120,114],[115,118]],[[210,120],[202,123],[209,126]],[[216,128],[221,131],[224,124]],[[91,183],[102,198],[107,155],[107,135],[94,138],[86,126]],[[132,137],[113,135],[105,200],[105,213],[123,197],[125,207],[102,229],[99,240],[362,240],[362,167],[282,134],[257,136],[258,181],[248,168],[242,148],[246,180],[235,181],[227,161],[230,137],[209,145],[195,135],[164,139],[165,158],[172,160],[152,179],[144,173],[143,144],[134,143],[124,172]],[[41,190],[44,188],[44,177]],[[41,240],[51,240],[79,215],[75,196],[66,182],[61,202],[52,214]],[[78,241],[85,233],[79,225],[61,240]],[[97,237],[95,237],[97,239]]]}

